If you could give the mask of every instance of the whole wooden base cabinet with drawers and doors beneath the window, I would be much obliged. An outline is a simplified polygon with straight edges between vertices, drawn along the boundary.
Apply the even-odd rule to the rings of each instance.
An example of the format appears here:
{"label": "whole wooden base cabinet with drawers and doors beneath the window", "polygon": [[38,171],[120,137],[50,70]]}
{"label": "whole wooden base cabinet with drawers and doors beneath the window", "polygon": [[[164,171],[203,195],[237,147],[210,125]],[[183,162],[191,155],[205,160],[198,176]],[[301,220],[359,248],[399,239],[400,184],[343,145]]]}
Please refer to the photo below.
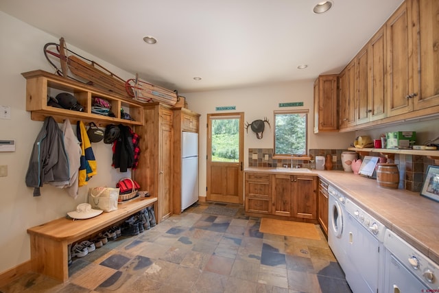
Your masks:
{"label": "whole wooden base cabinet with drawers and doors beneath the window", "polygon": [[317,223],[318,177],[246,173],[246,213]]}

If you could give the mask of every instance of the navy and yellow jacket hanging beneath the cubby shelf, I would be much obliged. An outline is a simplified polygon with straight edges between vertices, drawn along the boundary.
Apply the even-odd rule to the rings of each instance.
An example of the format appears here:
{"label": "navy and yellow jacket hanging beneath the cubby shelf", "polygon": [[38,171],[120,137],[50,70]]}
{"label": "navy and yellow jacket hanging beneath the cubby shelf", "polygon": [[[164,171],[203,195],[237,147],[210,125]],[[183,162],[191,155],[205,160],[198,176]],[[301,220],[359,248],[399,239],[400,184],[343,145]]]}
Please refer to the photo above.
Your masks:
{"label": "navy and yellow jacket hanging beneath the cubby shelf", "polygon": [[97,174],[97,163],[84,122],[78,121],[76,126],[78,141],[81,143],[80,171],[78,174],[78,186],[81,187],[86,185],[87,181]]}

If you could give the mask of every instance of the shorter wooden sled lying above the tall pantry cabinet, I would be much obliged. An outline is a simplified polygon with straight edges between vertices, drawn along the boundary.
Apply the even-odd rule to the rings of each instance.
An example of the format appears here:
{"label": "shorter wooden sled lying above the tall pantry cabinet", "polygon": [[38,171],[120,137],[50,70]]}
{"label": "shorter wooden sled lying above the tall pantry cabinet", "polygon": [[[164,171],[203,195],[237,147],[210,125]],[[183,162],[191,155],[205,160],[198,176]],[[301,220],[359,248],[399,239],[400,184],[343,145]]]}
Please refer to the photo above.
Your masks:
{"label": "shorter wooden sled lying above the tall pantry cabinet", "polygon": [[154,86],[154,84],[143,82],[139,80],[139,75],[137,74],[135,79],[131,78],[127,80],[125,85],[130,97],[134,97],[134,99],[139,102],[162,102],[175,106],[178,101],[178,95],[174,91],[169,91],[161,86]]}

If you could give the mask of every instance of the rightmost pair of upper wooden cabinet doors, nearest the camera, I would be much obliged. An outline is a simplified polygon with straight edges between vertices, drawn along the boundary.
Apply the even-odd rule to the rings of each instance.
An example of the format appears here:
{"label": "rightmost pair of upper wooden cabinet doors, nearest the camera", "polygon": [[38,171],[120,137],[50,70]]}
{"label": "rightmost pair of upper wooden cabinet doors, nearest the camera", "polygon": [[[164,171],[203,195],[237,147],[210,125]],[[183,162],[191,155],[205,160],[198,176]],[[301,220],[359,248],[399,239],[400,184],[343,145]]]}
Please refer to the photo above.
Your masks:
{"label": "rightmost pair of upper wooden cabinet doors, nearest the camera", "polygon": [[439,105],[439,2],[407,0],[387,22],[388,116]]}

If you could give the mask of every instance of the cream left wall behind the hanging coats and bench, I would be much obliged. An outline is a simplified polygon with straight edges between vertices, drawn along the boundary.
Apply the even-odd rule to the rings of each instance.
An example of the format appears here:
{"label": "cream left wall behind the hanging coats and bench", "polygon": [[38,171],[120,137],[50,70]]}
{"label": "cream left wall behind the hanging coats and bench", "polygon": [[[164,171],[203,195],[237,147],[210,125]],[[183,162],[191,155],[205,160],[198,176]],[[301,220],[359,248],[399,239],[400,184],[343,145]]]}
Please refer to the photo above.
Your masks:
{"label": "cream left wall behind the hanging coats and bench", "polygon": [[[111,167],[112,150],[102,141],[93,143],[97,159],[97,175],[86,187],[80,187],[80,196],[73,200],[67,192],[45,185],[42,196],[34,197],[33,189],[26,187],[25,174],[29,155],[43,121],[32,121],[25,110],[26,80],[22,72],[43,69],[54,72],[43,55],[45,43],[59,43],[61,36],[51,36],[36,30],[8,14],[0,12],[0,106],[11,108],[11,119],[0,119],[0,140],[14,139],[15,152],[0,152],[0,165],[8,165],[8,176],[0,177],[0,273],[29,260],[30,246],[26,229],[49,220],[63,217],[68,211],[86,200],[88,187],[114,187],[120,173]],[[132,74],[70,46],[82,56],[91,58],[121,78],[132,78]],[[75,131],[76,127],[73,126]]]}

